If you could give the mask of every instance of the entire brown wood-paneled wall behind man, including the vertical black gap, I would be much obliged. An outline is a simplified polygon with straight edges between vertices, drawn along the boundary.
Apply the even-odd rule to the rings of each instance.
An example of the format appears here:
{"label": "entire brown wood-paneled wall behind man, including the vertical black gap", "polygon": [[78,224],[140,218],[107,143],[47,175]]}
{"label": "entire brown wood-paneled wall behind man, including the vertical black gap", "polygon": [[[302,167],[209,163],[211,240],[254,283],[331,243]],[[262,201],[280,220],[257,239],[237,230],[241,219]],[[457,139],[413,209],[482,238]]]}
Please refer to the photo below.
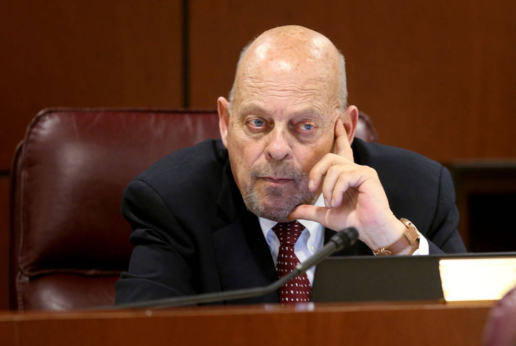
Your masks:
{"label": "entire brown wood-paneled wall behind man, including the vertical black gap", "polygon": [[[512,0],[20,0],[2,2],[0,13],[2,186],[40,109],[214,108],[240,49],[285,24],[318,30],[341,49],[349,102],[372,117],[382,143],[441,162],[516,156]],[[0,275],[0,299],[5,287]]]}

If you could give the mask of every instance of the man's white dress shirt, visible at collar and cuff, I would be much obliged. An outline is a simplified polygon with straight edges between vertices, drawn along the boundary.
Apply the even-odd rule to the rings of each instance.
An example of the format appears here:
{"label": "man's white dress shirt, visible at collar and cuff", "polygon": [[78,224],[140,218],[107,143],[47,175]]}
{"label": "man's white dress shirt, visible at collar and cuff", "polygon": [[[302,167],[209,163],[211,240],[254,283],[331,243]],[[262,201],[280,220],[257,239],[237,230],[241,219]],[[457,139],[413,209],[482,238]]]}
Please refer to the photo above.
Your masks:
{"label": "man's white dress shirt, visible at collar and cuff", "polygon": [[[315,202],[315,205],[318,207],[324,207],[324,199],[322,198],[322,194]],[[272,230],[272,227],[276,226],[276,221],[271,221],[269,219],[258,217],[260,222],[260,226],[262,227],[262,232],[269,245],[270,254],[272,255],[272,260],[274,261],[274,265],[276,266],[276,261],[278,259],[278,251],[280,248],[280,240],[278,239],[276,233]],[[325,227],[315,221],[309,220],[297,220],[301,225],[304,226],[301,235],[294,245],[294,253],[296,254],[299,262],[304,262],[307,258],[315,254],[320,248],[324,246],[324,229]],[[428,241],[423,235],[420,238],[420,246],[417,250],[414,251],[412,255],[428,255]],[[314,275],[315,275],[315,265],[307,270],[307,276],[310,280],[310,285],[314,283]]]}

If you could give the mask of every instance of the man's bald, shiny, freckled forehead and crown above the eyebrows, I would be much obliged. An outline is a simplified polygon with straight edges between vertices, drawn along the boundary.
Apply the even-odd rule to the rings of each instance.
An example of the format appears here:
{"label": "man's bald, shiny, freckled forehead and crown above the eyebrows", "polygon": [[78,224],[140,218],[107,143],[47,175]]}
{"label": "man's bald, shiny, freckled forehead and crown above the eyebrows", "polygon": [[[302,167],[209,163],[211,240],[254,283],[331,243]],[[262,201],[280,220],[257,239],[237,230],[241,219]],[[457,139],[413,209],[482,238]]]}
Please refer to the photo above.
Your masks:
{"label": "man's bald, shiny, freckled forehead and crown above the eyebrows", "polygon": [[280,28],[257,38],[239,61],[234,109],[326,114],[340,105],[338,52],[324,36]]}

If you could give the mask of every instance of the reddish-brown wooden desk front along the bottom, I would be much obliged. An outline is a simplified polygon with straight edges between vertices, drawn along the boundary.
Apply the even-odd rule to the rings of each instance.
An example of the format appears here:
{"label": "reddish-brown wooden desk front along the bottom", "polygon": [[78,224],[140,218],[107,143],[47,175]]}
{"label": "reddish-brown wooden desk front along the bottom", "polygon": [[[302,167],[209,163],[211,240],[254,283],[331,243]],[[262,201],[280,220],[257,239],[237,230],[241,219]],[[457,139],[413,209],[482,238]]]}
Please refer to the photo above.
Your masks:
{"label": "reddish-brown wooden desk front along the bottom", "polygon": [[[492,303],[0,312],[10,345],[478,345]],[[284,330],[284,326],[293,326]]]}

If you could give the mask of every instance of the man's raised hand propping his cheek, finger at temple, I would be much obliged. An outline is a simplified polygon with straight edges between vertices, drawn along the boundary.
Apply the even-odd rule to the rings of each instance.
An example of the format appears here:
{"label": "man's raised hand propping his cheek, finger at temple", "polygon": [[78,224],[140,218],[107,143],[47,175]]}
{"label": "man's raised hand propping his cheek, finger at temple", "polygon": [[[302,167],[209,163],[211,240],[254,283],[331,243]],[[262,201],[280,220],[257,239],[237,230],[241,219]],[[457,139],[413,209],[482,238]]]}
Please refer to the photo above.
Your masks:
{"label": "man's raised hand propping his cheek, finger at temple", "polygon": [[378,249],[395,242],[406,227],[394,216],[376,171],[353,162],[353,152],[342,121],[335,123],[334,152],[310,171],[309,190],[321,189],[325,207],[300,205],[289,219],[308,219],[330,229],[354,226],[359,239]]}

